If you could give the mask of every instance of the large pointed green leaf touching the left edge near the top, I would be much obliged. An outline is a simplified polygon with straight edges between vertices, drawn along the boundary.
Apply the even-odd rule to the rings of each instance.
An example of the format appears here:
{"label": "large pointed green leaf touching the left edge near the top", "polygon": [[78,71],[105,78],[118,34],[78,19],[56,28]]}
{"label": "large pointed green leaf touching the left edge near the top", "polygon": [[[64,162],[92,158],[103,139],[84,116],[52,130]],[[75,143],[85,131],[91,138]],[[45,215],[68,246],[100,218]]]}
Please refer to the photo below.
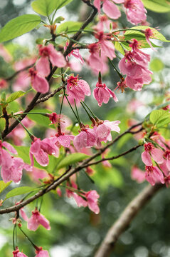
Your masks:
{"label": "large pointed green leaf touching the left edge near the top", "polygon": [[35,29],[41,18],[35,14],[24,14],[9,21],[0,31],[0,42],[15,39]]}

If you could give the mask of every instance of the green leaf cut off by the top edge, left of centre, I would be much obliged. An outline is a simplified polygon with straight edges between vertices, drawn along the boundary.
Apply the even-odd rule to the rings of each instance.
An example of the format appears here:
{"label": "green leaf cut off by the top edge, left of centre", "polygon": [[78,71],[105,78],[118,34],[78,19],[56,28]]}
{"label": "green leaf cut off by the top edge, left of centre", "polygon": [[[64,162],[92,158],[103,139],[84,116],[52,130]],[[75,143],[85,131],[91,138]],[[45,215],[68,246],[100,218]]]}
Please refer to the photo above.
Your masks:
{"label": "green leaf cut off by the top edge, left of centre", "polygon": [[50,15],[54,10],[69,4],[73,0],[36,0],[31,3],[33,11],[43,16]]}

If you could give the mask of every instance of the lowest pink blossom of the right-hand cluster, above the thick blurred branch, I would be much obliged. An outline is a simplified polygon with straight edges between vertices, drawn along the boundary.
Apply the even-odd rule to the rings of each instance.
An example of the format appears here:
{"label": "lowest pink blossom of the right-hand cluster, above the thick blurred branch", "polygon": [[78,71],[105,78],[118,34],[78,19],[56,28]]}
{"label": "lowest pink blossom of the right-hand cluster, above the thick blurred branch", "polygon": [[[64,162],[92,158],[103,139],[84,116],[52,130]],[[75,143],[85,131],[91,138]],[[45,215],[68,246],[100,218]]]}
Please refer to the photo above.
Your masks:
{"label": "lowest pink blossom of the right-hand cluster, above the thick blurred branch", "polygon": [[164,175],[156,166],[145,166],[145,178],[152,186],[155,183],[164,183]]}

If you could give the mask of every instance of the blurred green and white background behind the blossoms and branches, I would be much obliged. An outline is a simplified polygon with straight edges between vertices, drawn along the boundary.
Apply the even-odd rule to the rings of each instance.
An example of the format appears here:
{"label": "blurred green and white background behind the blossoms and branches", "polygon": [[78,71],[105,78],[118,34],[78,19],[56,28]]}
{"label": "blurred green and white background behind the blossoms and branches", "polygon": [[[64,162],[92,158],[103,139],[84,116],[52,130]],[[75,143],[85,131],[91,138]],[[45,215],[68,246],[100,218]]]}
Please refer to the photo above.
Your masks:
{"label": "blurred green and white background behind the blossoms and branches", "polygon": [[[57,16],[64,16],[65,21],[83,21],[90,13],[90,9],[80,0],[73,0],[67,8],[63,7],[58,10]],[[0,26],[4,26],[6,22],[17,17],[21,14],[32,14],[31,1],[28,0],[1,0],[0,5]],[[147,21],[150,26],[159,28],[161,34],[164,34],[167,39],[170,39],[170,13],[156,13],[148,11]],[[119,19],[119,24],[123,27],[132,26],[127,22],[127,19],[122,13]],[[38,38],[48,38],[48,30],[41,27],[31,33],[20,36],[13,41],[4,44],[8,49],[14,61],[19,61],[28,56],[34,56],[37,52],[35,40]],[[90,36],[83,36],[83,42],[92,42],[94,38]],[[117,92],[119,102],[115,104],[112,99],[109,104],[103,104],[101,108],[97,106],[97,101],[87,99],[86,103],[90,105],[92,111],[102,120],[108,119],[110,121],[121,121],[120,128],[124,131],[131,124],[142,121],[144,117],[149,114],[155,105],[162,104],[166,99],[169,100],[167,91],[169,89],[169,59],[170,51],[169,44],[160,44],[161,46],[156,52],[146,50],[147,53],[152,54],[152,61],[150,69],[154,72],[152,84],[144,86],[141,92],[135,92],[130,89],[125,90],[122,94],[121,91]],[[85,58],[86,51],[81,51]],[[122,57],[119,54],[120,57]],[[118,60],[115,60],[117,65]],[[0,77],[8,77],[14,73],[11,64],[6,62],[0,56]],[[95,88],[97,83],[97,76],[92,74],[86,67],[75,72],[79,74],[82,79],[85,79],[91,89]],[[102,81],[107,84],[110,89],[115,89],[119,77],[116,72],[110,67],[110,73],[102,76]],[[14,83],[14,81],[12,82]],[[9,90],[13,89],[13,85],[9,84]],[[53,87],[58,84],[56,80]],[[14,90],[14,89],[13,89]],[[169,91],[170,93],[170,91]],[[59,99],[59,100],[58,100]],[[27,101],[27,100],[26,100]],[[19,103],[21,106],[26,106],[26,102]],[[38,108],[44,108],[44,105]],[[47,109],[59,112],[60,97],[51,99],[46,103]],[[18,111],[17,104],[11,106],[11,110]],[[73,119],[73,115],[67,105],[63,107],[63,114]],[[80,109],[80,116],[83,117],[83,122],[90,124],[86,119],[83,109]],[[41,124],[42,125],[42,124]],[[46,126],[38,126],[33,124],[33,133],[38,137],[43,137],[46,134]],[[115,137],[116,133],[112,133]],[[166,133],[166,138],[169,138],[169,133]],[[117,144],[106,153],[106,156],[114,156],[122,151],[126,151],[132,146],[137,144],[139,138],[128,135],[124,136],[117,142]],[[26,139],[29,141],[29,139]],[[51,231],[46,231],[45,228],[38,228],[38,231],[28,231],[26,222],[23,221],[23,230],[28,233],[38,246],[43,246],[49,250],[51,257],[90,257],[93,256],[102,239],[105,237],[107,230],[112,226],[120,213],[124,210],[129,201],[134,198],[147,182],[137,183],[132,180],[131,170],[132,166],[136,165],[144,170],[144,164],[141,161],[140,153],[142,148],[139,148],[128,156],[124,156],[115,161],[111,161],[111,167],[99,164],[92,167],[94,174],[95,184],[85,176],[83,171],[80,172],[79,184],[80,188],[85,191],[90,189],[97,190],[100,194],[100,214],[95,215],[87,208],[78,208],[73,199],[68,199],[63,196],[60,198],[55,193],[50,193],[43,197],[43,205],[41,212],[51,221]],[[28,173],[24,173],[21,186],[32,185],[35,178],[31,177]],[[14,185],[11,184],[11,188]],[[4,198],[9,188],[1,193],[0,198]],[[9,198],[4,203],[4,206],[11,206],[14,201],[19,200],[20,197]],[[127,231],[122,234],[116,243],[115,250],[111,256],[123,257],[169,257],[170,256],[170,196],[169,189],[161,189],[159,193],[152,199],[152,201],[145,206],[142,211],[137,215]],[[26,213],[31,216],[35,203],[27,206]],[[0,256],[11,256],[12,252],[12,226],[9,218],[12,214],[0,217]],[[20,250],[28,256],[34,256],[33,248],[26,238],[18,231],[18,246]]]}

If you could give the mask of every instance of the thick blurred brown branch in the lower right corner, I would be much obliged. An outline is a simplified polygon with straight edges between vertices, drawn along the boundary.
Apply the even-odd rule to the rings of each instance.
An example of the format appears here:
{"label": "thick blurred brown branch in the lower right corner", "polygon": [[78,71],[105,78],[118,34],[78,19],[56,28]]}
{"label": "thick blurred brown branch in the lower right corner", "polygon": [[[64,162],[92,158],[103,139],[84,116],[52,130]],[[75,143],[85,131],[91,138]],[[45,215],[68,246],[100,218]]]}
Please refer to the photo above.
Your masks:
{"label": "thick blurred brown branch in the lower right corner", "polygon": [[163,188],[163,184],[156,184],[156,186],[146,186],[144,190],[139,193],[124,209],[121,216],[112,225],[112,227],[107,232],[105,239],[102,241],[100,248],[95,257],[108,257],[115,246],[115,243],[119,236],[127,229],[129,224],[133,221],[137,213],[142,209],[142,207],[147,204],[147,202],[152,198],[159,189]]}

